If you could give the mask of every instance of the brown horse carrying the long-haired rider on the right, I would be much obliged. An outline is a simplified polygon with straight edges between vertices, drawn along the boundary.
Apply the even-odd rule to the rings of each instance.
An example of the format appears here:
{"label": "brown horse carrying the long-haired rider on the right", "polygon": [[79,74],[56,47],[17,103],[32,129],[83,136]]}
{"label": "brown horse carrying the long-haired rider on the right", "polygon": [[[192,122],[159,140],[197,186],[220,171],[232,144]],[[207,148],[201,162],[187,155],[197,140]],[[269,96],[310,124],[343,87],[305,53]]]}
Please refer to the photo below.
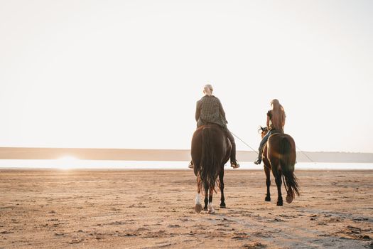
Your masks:
{"label": "brown horse carrying the long-haired rider on the right", "polygon": [[[267,127],[260,127],[261,138],[267,132]],[[295,194],[299,196],[299,186],[296,176],[294,175],[294,165],[296,164],[296,143],[294,139],[283,133],[274,133],[269,136],[268,142],[263,149],[261,158],[264,164],[264,171],[266,173],[267,194],[266,201],[271,201],[271,194],[269,193],[269,186],[271,186],[270,171],[274,174],[277,185],[277,206],[283,205],[281,195],[281,184],[286,189],[286,202],[291,203]]]}

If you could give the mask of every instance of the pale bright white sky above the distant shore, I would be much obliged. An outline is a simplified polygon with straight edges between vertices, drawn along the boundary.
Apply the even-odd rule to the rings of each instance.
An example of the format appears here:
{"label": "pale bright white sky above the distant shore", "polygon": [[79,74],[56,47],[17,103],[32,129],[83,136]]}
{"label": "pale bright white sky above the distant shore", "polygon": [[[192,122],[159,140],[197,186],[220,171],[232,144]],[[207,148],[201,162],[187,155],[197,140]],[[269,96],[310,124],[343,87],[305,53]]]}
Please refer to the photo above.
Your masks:
{"label": "pale bright white sky above the distant shore", "polygon": [[372,153],[372,13],[369,0],[0,0],[0,147],[190,149],[210,83],[254,149],[277,98],[298,149]]}

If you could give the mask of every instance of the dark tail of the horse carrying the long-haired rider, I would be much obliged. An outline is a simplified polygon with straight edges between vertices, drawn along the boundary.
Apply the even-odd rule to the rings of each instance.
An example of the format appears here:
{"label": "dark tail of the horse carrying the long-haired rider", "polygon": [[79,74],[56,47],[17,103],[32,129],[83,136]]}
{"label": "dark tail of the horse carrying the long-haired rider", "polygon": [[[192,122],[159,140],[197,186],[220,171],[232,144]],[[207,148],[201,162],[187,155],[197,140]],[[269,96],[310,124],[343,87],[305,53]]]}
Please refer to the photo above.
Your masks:
{"label": "dark tail of the horse carrying the long-haired rider", "polygon": [[281,137],[279,159],[281,171],[283,173],[283,184],[285,185],[287,194],[294,198],[295,194],[299,196],[299,186],[298,179],[294,175],[295,161],[291,160],[291,153],[291,142],[287,137]]}

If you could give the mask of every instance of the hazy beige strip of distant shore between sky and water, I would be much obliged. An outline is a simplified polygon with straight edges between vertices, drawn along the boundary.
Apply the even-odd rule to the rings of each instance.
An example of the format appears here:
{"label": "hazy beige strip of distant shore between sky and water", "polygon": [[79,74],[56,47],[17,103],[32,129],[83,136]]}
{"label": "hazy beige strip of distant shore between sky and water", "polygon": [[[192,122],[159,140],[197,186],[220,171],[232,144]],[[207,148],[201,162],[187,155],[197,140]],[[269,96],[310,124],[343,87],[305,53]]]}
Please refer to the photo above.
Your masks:
{"label": "hazy beige strip of distant shore between sky and water", "polygon": [[[254,161],[256,152],[238,151],[239,161]],[[60,159],[121,161],[188,161],[189,149],[88,149],[0,147],[0,159]],[[297,152],[298,162],[373,163],[373,153]]]}

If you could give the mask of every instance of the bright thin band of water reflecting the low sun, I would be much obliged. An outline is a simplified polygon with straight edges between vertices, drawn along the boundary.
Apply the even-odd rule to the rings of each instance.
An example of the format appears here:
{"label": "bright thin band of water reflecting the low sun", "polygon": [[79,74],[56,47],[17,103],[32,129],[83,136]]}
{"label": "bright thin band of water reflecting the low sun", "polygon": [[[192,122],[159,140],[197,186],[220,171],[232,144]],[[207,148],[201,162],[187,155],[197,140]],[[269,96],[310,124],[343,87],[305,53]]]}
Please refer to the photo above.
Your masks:
{"label": "bright thin band of water reflecting the low sun", "polygon": [[[263,169],[263,164],[241,162],[242,169]],[[188,161],[111,161],[78,160],[71,157],[58,160],[1,159],[0,169],[188,169]],[[232,169],[226,164],[225,169]],[[373,170],[372,164],[362,163],[298,163],[296,170]]]}

